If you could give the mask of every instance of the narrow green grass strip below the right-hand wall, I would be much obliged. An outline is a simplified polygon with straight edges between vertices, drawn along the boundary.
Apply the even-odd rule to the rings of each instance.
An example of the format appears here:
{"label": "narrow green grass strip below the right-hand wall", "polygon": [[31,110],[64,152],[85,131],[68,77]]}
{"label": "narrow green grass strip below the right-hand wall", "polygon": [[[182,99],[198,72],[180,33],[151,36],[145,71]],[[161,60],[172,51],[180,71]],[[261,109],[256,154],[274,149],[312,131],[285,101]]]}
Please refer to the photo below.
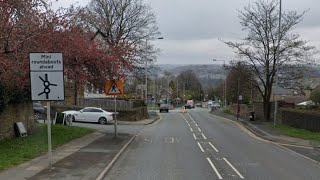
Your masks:
{"label": "narrow green grass strip below the right-hand wall", "polygon": [[291,136],[291,137],[297,137],[305,140],[317,140],[320,141],[320,132],[311,132],[305,129],[298,129],[293,128],[286,125],[276,125],[276,127],[273,127],[272,124],[269,125],[272,128],[277,129],[279,132]]}

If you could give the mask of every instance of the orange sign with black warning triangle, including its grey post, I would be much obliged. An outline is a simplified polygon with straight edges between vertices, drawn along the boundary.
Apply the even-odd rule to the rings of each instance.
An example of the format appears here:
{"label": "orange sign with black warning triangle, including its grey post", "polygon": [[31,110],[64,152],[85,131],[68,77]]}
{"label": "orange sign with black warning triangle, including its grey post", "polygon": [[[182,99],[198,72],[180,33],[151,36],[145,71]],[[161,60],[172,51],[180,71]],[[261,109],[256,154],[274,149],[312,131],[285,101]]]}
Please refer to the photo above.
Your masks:
{"label": "orange sign with black warning triangle, including its grey post", "polygon": [[117,95],[123,95],[123,81],[121,80],[107,80],[104,93],[107,96],[114,96],[114,138],[118,137],[117,133]]}

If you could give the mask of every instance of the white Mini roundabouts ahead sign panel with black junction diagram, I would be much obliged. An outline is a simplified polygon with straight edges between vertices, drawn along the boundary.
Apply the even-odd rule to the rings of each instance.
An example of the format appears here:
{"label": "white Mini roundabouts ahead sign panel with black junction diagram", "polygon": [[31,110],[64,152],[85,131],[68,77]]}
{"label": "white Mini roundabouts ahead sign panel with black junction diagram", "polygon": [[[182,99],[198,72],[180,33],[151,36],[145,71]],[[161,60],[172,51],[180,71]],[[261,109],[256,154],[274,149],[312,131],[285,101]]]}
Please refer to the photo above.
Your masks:
{"label": "white Mini roundabouts ahead sign panel with black junction diagram", "polygon": [[31,98],[64,100],[62,53],[30,53]]}

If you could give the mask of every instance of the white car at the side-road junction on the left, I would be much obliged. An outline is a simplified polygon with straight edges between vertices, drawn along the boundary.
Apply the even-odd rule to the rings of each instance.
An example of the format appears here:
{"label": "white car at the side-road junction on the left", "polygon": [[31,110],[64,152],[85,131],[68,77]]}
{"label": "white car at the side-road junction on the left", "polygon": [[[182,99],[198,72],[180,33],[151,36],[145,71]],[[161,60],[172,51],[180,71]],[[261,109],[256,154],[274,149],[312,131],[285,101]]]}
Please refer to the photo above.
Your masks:
{"label": "white car at the side-road junction on the left", "polygon": [[64,111],[66,117],[72,118],[72,121],[79,122],[97,122],[100,124],[113,123],[113,113],[97,107],[85,107],[80,111]]}

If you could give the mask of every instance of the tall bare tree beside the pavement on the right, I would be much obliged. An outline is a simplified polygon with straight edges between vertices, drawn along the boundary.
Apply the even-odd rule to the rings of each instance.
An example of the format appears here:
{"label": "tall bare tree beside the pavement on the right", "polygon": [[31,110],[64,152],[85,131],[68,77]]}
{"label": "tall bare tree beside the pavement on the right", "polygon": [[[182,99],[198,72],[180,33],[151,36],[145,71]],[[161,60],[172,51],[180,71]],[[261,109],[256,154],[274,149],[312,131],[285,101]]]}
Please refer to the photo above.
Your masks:
{"label": "tall bare tree beside the pavement on the right", "polygon": [[241,42],[225,42],[235,49],[253,72],[254,86],[263,97],[264,117],[267,120],[270,119],[269,101],[276,73],[281,74],[279,82],[295,80],[301,75],[299,67],[311,63],[312,55],[315,53],[313,46],[309,46],[298,34],[291,31],[302,21],[305,12],[282,13],[283,21],[280,26],[280,37],[278,36],[278,7],[279,3],[275,0],[258,0],[246,6],[243,11],[239,11],[239,19],[243,30],[248,31],[248,35]]}

